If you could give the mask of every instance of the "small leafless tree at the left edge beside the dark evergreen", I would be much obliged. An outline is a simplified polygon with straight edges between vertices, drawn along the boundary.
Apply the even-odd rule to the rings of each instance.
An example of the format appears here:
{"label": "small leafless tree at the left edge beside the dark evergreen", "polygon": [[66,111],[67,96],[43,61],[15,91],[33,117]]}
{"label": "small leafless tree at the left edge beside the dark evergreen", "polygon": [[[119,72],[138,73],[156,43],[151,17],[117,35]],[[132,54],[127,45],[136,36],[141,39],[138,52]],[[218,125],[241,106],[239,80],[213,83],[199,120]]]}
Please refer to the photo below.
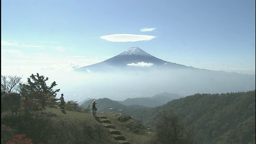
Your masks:
{"label": "small leafless tree at the left edge beside the dark evergreen", "polygon": [[7,93],[17,90],[17,84],[22,79],[22,76],[1,76],[1,90]]}

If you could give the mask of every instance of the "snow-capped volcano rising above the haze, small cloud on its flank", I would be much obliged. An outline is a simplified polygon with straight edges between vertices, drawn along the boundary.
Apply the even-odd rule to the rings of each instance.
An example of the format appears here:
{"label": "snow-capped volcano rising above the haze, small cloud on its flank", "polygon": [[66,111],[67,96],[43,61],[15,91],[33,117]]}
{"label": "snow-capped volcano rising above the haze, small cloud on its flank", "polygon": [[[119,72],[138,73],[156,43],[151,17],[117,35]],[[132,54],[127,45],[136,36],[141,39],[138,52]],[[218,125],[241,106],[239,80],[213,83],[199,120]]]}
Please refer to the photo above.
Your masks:
{"label": "snow-capped volcano rising above the haze, small cloud on its flank", "polygon": [[103,72],[112,71],[116,69],[122,70],[150,70],[150,68],[192,68],[191,66],[184,66],[167,62],[156,58],[138,47],[128,48],[126,51],[89,66],[83,66],[76,69],[78,72]]}

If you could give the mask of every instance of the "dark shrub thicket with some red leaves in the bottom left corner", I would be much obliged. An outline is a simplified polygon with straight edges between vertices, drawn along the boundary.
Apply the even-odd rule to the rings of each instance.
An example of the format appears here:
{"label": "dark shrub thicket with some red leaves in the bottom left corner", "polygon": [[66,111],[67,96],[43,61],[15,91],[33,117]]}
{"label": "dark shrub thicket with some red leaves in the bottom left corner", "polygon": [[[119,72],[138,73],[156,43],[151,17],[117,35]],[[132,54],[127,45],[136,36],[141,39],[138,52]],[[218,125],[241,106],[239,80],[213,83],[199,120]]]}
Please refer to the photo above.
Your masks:
{"label": "dark shrub thicket with some red leaves in the bottom left corner", "polygon": [[110,144],[101,124],[86,120],[62,120],[27,100],[17,115],[1,115],[1,143],[6,144]]}

